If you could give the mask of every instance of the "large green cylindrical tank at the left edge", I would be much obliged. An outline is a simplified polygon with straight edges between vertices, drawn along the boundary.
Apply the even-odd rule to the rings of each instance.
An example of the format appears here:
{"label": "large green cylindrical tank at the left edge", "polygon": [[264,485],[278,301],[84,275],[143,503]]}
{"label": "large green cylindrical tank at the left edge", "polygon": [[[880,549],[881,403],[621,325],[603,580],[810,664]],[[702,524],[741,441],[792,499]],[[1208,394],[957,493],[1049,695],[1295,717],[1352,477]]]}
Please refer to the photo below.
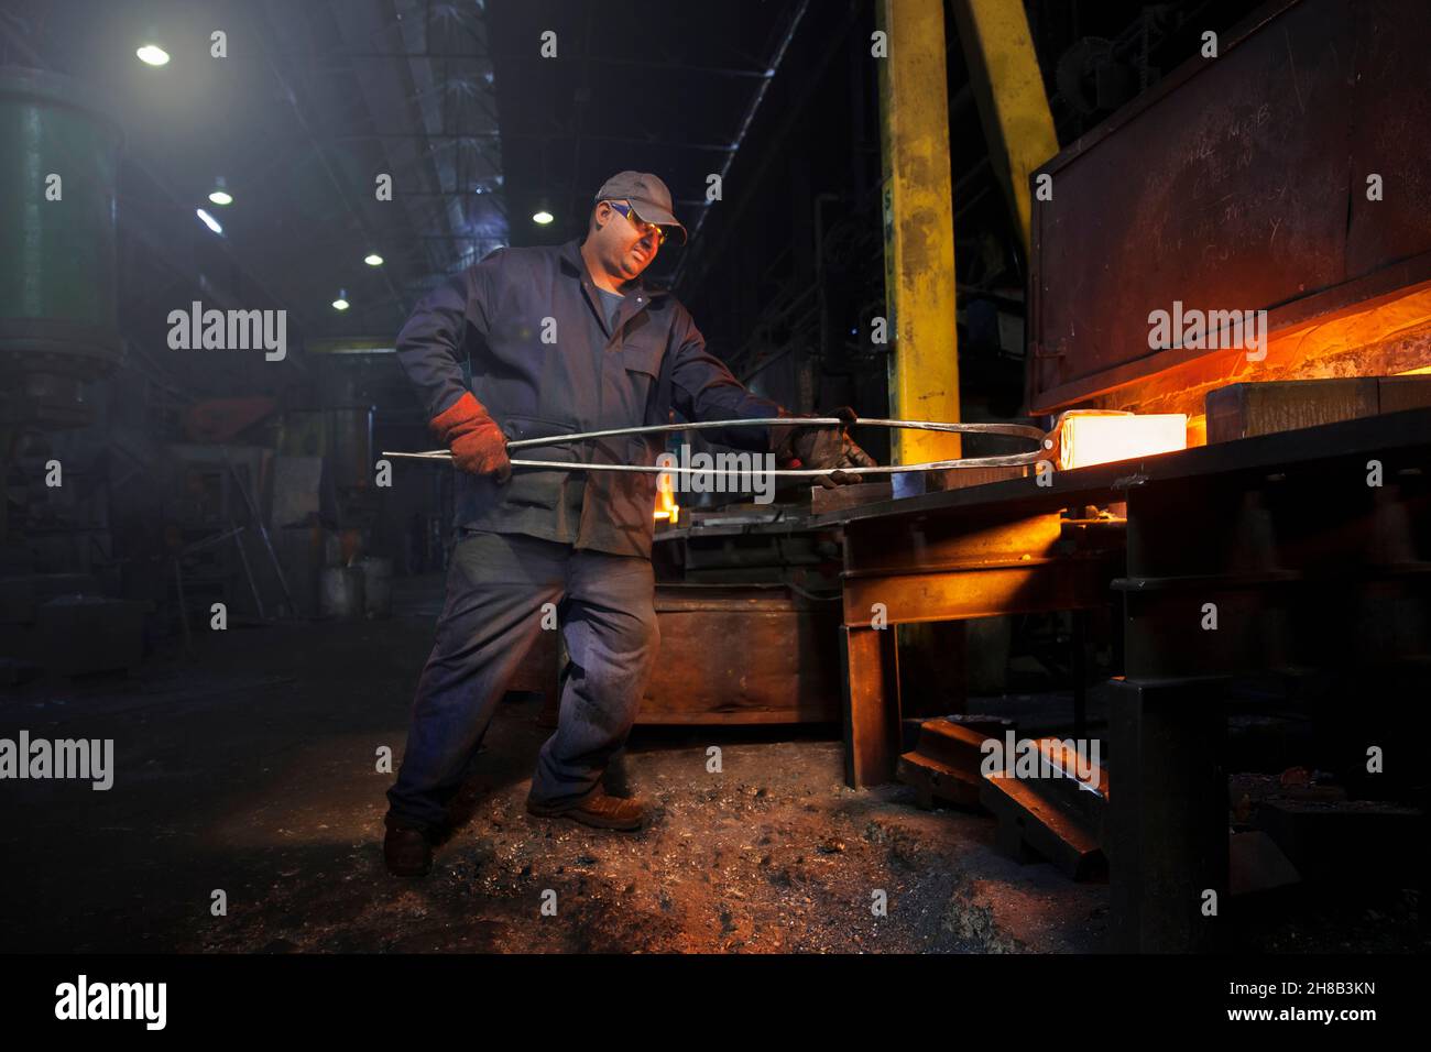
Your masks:
{"label": "large green cylindrical tank at the left edge", "polygon": [[79,82],[0,67],[0,381],[21,395],[6,406],[11,422],[84,422],[83,381],[119,361],[119,126]]}

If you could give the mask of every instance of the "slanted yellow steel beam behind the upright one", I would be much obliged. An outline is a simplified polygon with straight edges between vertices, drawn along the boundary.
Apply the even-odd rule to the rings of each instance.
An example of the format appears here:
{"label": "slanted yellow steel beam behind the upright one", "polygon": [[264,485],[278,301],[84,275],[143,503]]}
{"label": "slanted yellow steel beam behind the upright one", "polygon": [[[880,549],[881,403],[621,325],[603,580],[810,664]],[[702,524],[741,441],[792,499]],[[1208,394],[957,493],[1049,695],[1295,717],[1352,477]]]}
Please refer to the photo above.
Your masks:
{"label": "slanted yellow steel beam behind the upright one", "polygon": [[1029,175],[1059,152],[1023,0],[950,0],[1005,196],[1029,249]]}

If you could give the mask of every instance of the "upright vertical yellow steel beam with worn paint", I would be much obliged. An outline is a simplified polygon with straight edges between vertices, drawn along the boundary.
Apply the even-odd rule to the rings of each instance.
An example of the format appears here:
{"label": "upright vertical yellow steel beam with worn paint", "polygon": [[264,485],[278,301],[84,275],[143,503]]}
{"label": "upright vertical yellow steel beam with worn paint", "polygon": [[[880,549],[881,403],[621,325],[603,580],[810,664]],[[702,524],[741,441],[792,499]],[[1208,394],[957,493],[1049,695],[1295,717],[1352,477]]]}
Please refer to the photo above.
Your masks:
{"label": "upright vertical yellow steel beam with worn paint", "polygon": [[[884,299],[890,415],[959,421],[954,210],[943,0],[879,0],[876,54],[883,155]],[[959,437],[900,431],[897,464],[959,457]]]}

